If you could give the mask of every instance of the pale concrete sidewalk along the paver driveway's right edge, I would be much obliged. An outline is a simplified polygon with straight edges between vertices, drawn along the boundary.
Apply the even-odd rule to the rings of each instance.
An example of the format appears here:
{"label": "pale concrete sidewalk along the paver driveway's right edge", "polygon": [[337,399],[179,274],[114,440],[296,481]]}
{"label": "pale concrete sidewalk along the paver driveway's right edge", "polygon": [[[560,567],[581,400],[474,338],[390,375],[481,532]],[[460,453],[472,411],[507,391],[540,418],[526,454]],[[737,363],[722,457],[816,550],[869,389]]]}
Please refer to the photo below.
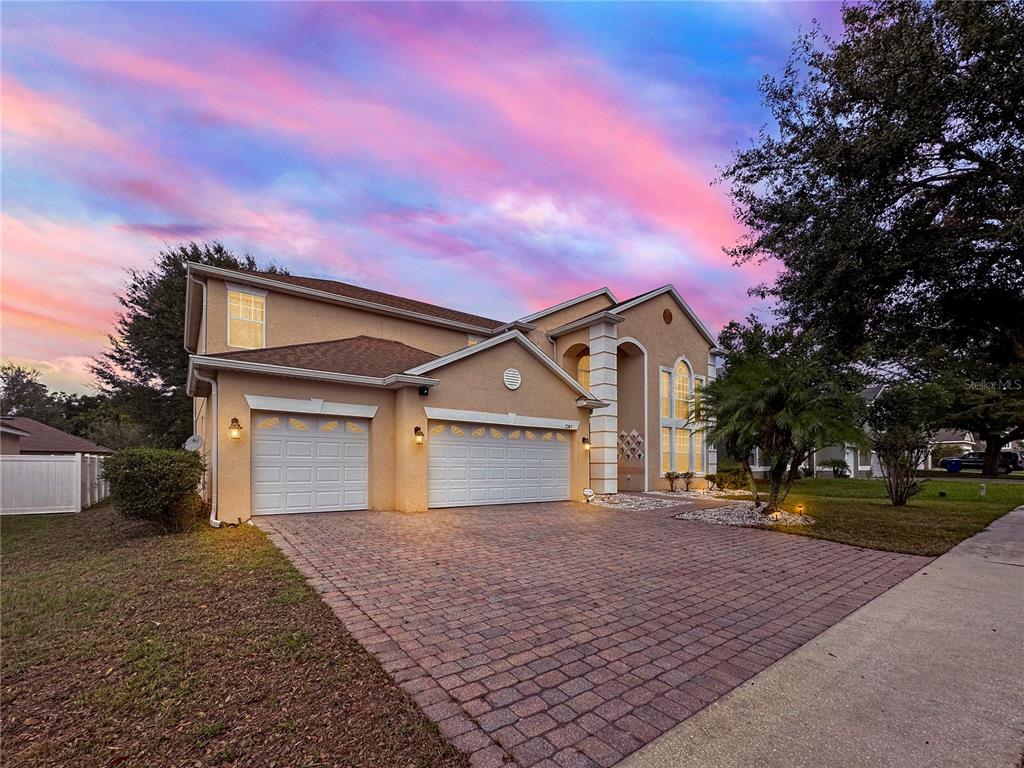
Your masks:
{"label": "pale concrete sidewalk along the paver driveway's right edge", "polygon": [[1024,507],[620,768],[1016,768]]}

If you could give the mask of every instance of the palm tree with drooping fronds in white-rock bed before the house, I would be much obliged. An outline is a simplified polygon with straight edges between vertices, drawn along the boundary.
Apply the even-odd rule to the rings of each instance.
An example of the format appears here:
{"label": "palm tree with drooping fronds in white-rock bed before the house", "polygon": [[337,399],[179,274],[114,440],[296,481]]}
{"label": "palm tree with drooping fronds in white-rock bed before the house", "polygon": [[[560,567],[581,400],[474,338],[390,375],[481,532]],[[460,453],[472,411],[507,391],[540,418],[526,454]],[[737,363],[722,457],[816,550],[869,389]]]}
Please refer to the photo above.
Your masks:
{"label": "palm tree with drooping fronds in white-rock bed before the house", "polygon": [[[709,440],[742,461],[761,449],[771,482],[765,513],[781,511],[800,467],[815,446],[859,438],[860,398],[813,357],[742,353],[703,392]],[[757,504],[757,496],[755,496]]]}

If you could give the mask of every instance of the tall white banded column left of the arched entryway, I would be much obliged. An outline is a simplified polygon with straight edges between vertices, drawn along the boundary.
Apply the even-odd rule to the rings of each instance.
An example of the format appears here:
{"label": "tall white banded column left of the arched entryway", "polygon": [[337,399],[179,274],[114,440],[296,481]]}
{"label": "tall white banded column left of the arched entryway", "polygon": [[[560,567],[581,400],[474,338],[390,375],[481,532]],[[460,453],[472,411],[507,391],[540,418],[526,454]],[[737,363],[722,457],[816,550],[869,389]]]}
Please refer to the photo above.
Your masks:
{"label": "tall white banded column left of the arched entryway", "polygon": [[618,331],[590,327],[590,391],[608,404],[590,417],[590,477],[596,494],[618,493]]}

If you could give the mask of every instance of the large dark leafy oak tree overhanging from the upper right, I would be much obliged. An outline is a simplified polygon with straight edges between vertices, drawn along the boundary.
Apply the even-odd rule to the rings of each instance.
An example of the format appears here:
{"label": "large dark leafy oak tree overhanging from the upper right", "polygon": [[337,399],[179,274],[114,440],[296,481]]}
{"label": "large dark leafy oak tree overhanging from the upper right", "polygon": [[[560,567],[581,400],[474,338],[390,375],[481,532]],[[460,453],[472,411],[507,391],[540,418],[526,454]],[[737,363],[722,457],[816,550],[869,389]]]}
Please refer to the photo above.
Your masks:
{"label": "large dark leafy oak tree overhanging from the upper right", "polygon": [[848,359],[944,380],[947,426],[1024,437],[1024,3],[847,5],[762,92],[724,177],[757,292]]}

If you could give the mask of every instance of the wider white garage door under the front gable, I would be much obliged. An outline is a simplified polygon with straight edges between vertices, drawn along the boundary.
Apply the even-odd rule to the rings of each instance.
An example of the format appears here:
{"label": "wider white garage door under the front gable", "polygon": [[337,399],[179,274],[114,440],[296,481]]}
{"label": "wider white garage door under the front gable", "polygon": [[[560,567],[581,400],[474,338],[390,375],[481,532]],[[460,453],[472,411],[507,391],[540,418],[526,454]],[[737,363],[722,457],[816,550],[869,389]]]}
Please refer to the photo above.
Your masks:
{"label": "wider white garage door under the front gable", "polygon": [[571,432],[430,422],[431,507],[565,501]]}

